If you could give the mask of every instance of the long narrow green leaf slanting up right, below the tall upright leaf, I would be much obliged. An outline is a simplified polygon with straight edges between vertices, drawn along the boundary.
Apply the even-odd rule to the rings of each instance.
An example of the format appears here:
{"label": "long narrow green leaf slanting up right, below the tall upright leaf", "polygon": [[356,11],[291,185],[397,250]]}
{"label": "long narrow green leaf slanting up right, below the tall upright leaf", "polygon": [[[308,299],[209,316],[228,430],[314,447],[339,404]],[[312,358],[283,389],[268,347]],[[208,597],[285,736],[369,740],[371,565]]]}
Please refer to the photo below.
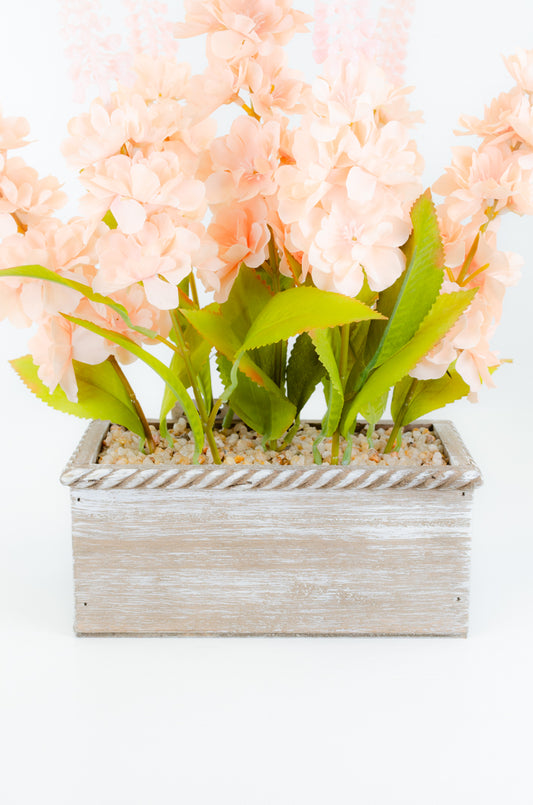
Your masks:
{"label": "long narrow green leaf slanting up right, below the tall upright leaf", "polygon": [[384,394],[409,374],[416,364],[438,344],[464,313],[476,289],[441,294],[413,338],[402,349],[374,370],[361,391],[343,414],[342,432],[350,433],[357,414],[372,400]]}

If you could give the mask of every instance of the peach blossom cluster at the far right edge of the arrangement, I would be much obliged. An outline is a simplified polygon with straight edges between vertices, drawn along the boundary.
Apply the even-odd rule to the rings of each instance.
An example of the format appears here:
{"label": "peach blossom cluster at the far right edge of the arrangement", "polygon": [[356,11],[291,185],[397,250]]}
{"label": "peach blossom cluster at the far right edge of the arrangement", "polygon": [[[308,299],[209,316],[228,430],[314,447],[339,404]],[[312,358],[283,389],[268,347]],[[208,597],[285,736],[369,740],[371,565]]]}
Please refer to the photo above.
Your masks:
{"label": "peach blossom cluster at the far right edge of the arrangement", "polygon": [[[490,340],[500,320],[505,290],[520,276],[522,259],[497,247],[506,212],[533,213],[533,50],[506,60],[516,81],[485,109],[482,119],[463,117],[465,133],[481,138],[477,149],[453,150],[451,165],[434,184],[443,196],[438,207],[447,281],[442,291],[477,288],[474,302],[412,373],[441,377],[451,363],[475,393],[494,385],[500,363]],[[470,252],[470,254],[469,254]]]}

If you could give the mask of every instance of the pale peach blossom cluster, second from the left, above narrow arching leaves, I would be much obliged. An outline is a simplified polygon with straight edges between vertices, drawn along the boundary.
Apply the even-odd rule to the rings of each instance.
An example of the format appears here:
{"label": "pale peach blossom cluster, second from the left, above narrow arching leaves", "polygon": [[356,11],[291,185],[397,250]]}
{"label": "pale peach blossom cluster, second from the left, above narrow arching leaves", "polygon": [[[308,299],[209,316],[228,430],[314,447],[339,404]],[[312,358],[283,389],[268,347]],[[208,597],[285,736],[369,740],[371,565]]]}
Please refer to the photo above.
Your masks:
{"label": "pale peach blossom cluster, second from the left, above narrow arching leaves", "polygon": [[94,289],[115,293],[142,282],[149,303],[170,310],[193,265],[220,267],[197,178],[214,128],[189,108],[187,66],[139,57],[135,70],[132,86],[71,122],[64,154],[82,168],[82,214],[99,221],[110,212],[117,224],[98,238]]}

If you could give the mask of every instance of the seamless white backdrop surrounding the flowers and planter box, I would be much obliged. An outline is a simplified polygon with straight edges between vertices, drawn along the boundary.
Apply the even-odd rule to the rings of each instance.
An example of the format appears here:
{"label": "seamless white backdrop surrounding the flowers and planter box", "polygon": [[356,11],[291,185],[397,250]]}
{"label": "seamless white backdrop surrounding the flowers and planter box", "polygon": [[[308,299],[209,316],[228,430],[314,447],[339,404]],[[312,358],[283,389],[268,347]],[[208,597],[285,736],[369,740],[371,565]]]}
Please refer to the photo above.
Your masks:
{"label": "seamless white backdrop surrounding the flowers and planter box", "polygon": [[[530,0],[419,3],[408,81],[428,183],[518,46],[533,47]],[[66,179],[62,48],[55,2],[1,0],[4,113],[30,119],[27,159]],[[309,70],[307,49],[292,60]],[[526,259],[495,340],[514,363],[443,414],[485,477],[467,640],[75,638],[58,476],[85,425],[23,389],[7,359],[27,334],[0,325],[2,805],[533,803],[532,220],[508,218],[501,243]]]}

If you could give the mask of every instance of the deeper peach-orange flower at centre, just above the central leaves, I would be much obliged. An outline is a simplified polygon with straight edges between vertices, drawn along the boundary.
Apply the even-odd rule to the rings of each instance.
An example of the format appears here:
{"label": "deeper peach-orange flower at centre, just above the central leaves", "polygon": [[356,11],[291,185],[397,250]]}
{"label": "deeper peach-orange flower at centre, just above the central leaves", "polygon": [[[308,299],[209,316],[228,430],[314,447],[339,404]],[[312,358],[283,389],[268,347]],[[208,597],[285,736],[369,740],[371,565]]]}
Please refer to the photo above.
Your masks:
{"label": "deeper peach-orange flower at centre, just above the central leaves", "polygon": [[218,302],[228,298],[241,263],[257,268],[266,259],[270,240],[266,215],[266,204],[260,198],[217,211],[208,234],[218,243],[220,267],[200,269],[198,274]]}

